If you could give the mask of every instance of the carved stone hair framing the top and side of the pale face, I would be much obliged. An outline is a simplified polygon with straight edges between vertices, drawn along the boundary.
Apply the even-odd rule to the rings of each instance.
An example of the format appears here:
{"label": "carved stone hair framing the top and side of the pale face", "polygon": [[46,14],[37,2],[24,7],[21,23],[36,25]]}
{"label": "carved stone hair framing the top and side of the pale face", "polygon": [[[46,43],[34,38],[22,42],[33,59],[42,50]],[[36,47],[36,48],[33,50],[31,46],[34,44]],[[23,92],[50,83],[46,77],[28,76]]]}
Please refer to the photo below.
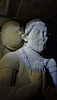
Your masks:
{"label": "carved stone hair framing the top and side of the pale face", "polygon": [[[32,20],[29,23],[27,23],[26,27],[25,27],[25,34],[22,35],[22,38],[27,42],[28,41],[28,35],[29,33],[32,31],[32,29],[34,29],[34,27],[37,27],[37,30],[41,29],[41,26],[45,26],[45,23],[43,23],[40,20]],[[45,31],[47,31],[47,28],[45,27],[44,29]],[[36,29],[35,29],[36,31]]]}

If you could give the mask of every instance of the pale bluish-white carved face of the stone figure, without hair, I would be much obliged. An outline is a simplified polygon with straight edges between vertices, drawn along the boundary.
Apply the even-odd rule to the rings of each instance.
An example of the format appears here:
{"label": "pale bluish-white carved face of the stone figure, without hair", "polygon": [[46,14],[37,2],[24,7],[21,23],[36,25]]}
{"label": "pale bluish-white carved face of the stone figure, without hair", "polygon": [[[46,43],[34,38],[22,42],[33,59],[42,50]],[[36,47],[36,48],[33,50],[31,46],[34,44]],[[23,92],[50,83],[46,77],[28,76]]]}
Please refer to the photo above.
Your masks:
{"label": "pale bluish-white carved face of the stone figure, without hair", "polygon": [[36,23],[28,35],[28,45],[41,53],[47,41],[47,27],[43,22]]}

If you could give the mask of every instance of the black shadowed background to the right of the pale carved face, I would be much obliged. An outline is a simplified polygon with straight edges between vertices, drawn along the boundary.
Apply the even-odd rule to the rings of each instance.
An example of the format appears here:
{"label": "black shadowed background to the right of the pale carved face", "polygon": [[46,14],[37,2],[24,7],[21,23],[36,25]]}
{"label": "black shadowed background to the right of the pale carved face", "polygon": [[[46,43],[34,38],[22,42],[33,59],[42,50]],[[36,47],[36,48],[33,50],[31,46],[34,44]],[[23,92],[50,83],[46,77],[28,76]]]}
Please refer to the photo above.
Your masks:
{"label": "black shadowed background to the right of the pale carved face", "polygon": [[54,58],[57,62],[57,14],[50,19],[44,20],[44,22],[48,29],[47,48],[44,56]]}

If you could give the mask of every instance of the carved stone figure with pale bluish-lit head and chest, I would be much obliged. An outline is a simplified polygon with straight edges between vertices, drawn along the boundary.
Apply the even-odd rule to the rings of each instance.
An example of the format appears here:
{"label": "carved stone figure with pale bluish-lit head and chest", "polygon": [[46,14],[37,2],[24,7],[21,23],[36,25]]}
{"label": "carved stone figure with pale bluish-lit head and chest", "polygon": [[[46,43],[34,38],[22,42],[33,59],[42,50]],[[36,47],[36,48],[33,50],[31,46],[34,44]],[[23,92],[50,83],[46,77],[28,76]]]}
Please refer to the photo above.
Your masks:
{"label": "carved stone figure with pale bluish-lit head and chest", "polygon": [[5,95],[5,100],[30,100],[35,94],[45,93],[48,86],[57,86],[55,60],[40,55],[48,40],[45,23],[29,23],[22,38],[24,45],[0,61],[0,97]]}

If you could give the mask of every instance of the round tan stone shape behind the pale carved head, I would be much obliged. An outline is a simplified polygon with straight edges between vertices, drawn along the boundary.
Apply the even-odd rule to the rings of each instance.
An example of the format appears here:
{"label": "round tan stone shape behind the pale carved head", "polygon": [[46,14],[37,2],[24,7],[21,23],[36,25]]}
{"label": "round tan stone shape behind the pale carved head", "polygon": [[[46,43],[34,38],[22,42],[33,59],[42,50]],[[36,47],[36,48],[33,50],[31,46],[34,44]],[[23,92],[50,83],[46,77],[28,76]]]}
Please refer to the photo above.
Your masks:
{"label": "round tan stone shape behind the pale carved head", "polygon": [[24,33],[24,27],[16,21],[9,21],[2,27],[1,39],[3,45],[10,50],[17,50],[23,45],[21,35]]}

